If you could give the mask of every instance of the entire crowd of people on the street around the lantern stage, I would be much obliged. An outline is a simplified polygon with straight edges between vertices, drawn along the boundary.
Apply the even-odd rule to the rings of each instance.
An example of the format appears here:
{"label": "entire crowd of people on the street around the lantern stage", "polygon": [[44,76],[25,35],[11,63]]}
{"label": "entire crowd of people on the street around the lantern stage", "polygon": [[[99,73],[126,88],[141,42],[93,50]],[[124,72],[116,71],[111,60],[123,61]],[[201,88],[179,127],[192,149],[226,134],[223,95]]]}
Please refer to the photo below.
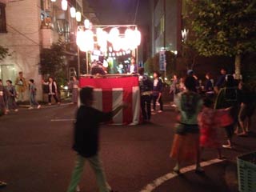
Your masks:
{"label": "entire crowd of people on the street around the lantern stage", "polygon": [[[142,117],[144,121],[148,122],[151,114],[163,111],[164,84],[157,71],[154,72],[153,80],[144,74],[143,68],[138,69],[138,74]],[[40,108],[35,99],[34,80],[30,79],[26,83],[26,79],[20,72],[18,81],[15,83],[18,86],[18,93],[24,93],[28,86],[30,107]],[[51,105],[52,97],[59,104],[57,83],[54,78],[50,77],[47,82],[42,81],[42,84],[49,88],[49,105]],[[102,163],[98,156],[99,125],[101,122],[109,122],[118,111],[127,105],[122,104],[115,110],[105,113],[92,107],[94,101],[92,87],[84,87],[79,93],[79,82],[76,77],[73,77],[69,86],[73,90],[72,101],[76,103],[78,94],[80,94],[82,105],[78,108],[74,125],[73,149],[77,152],[78,157],[67,191],[71,192],[77,189],[86,161],[94,170],[100,191],[112,191],[106,182]],[[222,147],[234,148],[234,134],[246,136],[250,131],[251,116],[255,109],[255,95],[243,82],[238,82],[233,75],[226,74],[225,69],[221,70],[221,75],[215,84],[211,75],[207,73],[205,86],[198,81],[193,70],[188,70],[185,78],[178,79],[178,76],[174,75],[170,94],[174,94],[173,106],[178,110],[177,123],[174,127],[174,141],[170,151],[170,158],[176,160],[174,172],[177,174],[180,174],[182,163],[190,161],[195,162],[197,174],[203,173],[204,170],[200,166],[200,162],[205,148],[216,150],[218,158],[224,158],[221,149]],[[10,109],[18,111],[15,102],[17,95],[10,80],[6,81],[5,87],[0,80],[0,107],[6,109],[3,111],[8,112]],[[22,99],[23,96],[20,98]],[[156,110],[157,106],[159,106],[158,111]],[[227,143],[225,145],[222,145],[218,138],[219,127],[223,127],[226,131]],[[240,130],[241,133],[239,133]],[[6,185],[6,183],[0,182],[1,185]]]}

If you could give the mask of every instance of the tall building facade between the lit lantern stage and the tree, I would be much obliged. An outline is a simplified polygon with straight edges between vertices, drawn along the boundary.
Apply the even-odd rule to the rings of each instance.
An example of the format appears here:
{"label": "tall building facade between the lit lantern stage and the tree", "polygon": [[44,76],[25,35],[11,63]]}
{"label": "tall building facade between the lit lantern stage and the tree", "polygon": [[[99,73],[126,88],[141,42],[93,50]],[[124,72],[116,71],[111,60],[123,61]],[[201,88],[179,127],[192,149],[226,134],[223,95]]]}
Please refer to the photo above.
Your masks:
{"label": "tall building facade between the lit lantern stage and the tree", "polygon": [[186,0],[152,0],[152,55],[160,50],[181,51],[186,38]]}

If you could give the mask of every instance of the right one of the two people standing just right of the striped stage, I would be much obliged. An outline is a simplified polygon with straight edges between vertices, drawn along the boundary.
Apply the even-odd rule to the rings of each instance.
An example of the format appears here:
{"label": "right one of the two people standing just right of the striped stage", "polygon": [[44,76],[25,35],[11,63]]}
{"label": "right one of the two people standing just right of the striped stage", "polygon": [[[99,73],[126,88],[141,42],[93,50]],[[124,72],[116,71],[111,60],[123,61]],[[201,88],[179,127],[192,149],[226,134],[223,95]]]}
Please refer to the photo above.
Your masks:
{"label": "right one of the two people standing just right of the striped stage", "polygon": [[160,74],[158,71],[155,71],[154,74],[154,83],[153,83],[153,112],[152,114],[155,114],[156,110],[156,103],[160,104],[160,109],[158,110],[158,113],[162,113],[163,110],[163,103],[162,103],[162,90],[163,90],[163,84],[162,80],[160,78]]}

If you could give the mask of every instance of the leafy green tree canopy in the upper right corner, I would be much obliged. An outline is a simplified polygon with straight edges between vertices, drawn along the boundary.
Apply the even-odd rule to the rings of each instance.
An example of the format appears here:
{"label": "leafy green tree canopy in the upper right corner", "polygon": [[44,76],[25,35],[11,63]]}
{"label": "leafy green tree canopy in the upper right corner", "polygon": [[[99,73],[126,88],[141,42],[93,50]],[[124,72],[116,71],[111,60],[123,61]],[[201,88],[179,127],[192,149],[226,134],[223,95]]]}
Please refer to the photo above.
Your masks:
{"label": "leafy green tree canopy in the upper right corner", "polygon": [[206,57],[256,50],[256,1],[190,0],[191,45]]}

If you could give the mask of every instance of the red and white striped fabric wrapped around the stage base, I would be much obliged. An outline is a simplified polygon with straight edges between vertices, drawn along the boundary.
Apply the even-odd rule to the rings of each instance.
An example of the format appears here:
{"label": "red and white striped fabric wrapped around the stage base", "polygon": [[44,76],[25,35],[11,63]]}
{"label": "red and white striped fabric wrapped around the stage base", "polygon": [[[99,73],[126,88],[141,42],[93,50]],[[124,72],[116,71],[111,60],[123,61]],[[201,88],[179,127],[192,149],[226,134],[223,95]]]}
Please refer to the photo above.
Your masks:
{"label": "red and white striped fabric wrapped around the stage base", "polygon": [[94,87],[94,107],[104,112],[114,110],[126,102],[128,108],[113,118],[114,124],[137,125],[140,120],[140,92],[138,77],[80,78],[80,86]]}

